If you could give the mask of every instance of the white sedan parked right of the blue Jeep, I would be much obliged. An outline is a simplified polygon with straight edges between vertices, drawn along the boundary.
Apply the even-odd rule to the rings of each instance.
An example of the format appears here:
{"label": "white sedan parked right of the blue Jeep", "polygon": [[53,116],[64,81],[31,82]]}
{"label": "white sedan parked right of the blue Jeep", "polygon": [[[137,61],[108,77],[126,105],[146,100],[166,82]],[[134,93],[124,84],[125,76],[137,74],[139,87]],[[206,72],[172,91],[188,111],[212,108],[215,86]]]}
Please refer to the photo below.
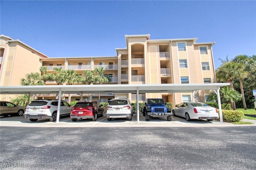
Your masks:
{"label": "white sedan parked right of the blue Jeep", "polygon": [[216,108],[201,102],[183,102],[172,110],[174,116],[185,117],[187,121],[191,119],[207,119],[213,121],[219,118]]}

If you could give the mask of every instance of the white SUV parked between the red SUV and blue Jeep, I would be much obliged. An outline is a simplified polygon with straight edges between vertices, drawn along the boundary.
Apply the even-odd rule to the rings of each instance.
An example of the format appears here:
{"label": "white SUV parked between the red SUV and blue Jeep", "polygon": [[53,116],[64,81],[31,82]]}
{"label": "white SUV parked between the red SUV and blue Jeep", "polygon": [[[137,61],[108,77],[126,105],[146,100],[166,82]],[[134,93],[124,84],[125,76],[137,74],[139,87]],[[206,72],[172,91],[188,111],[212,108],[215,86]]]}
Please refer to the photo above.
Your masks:
{"label": "white SUV parked between the red SUV and blue Jeep", "polygon": [[129,99],[112,99],[107,106],[107,119],[111,121],[112,118],[128,118],[132,120],[132,104]]}

